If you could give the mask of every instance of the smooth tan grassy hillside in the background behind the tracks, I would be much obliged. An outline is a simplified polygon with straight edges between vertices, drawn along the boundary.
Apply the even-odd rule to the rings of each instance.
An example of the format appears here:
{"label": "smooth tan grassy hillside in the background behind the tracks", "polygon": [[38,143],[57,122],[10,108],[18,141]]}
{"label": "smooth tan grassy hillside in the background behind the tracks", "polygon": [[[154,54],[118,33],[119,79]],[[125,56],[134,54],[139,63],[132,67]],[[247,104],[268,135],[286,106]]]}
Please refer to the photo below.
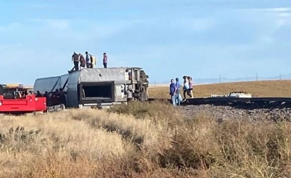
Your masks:
{"label": "smooth tan grassy hillside in the background behind the tracks", "polygon": [[[210,97],[211,94],[226,94],[230,91],[249,92],[253,96],[259,97],[291,97],[291,81],[251,81],[197,85],[194,86],[194,97]],[[149,97],[169,98],[169,87],[149,88]]]}

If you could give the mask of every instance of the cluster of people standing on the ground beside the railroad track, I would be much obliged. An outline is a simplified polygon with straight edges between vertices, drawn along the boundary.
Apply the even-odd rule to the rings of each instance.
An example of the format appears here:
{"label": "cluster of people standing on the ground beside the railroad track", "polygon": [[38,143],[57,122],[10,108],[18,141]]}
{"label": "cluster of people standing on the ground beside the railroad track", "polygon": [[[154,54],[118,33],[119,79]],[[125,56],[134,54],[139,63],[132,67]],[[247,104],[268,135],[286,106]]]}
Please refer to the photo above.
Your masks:
{"label": "cluster of people standing on the ground beside the railroad track", "polygon": [[171,79],[171,84],[170,84],[170,96],[172,99],[172,104],[174,106],[178,105],[180,106],[182,100],[186,100],[186,94],[190,97],[193,98],[193,81],[192,77],[190,76],[183,76],[184,82],[183,82],[183,97],[182,99],[181,94],[180,94],[180,89],[181,85],[179,82],[179,78],[176,78],[176,82],[174,79]]}

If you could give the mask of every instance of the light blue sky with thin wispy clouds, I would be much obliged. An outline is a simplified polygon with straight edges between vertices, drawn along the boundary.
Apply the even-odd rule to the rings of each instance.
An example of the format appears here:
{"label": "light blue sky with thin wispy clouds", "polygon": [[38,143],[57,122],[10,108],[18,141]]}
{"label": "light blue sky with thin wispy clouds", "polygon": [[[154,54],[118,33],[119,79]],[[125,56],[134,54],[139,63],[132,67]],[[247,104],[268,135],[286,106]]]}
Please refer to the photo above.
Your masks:
{"label": "light blue sky with thin wispy clouds", "polygon": [[290,0],[0,0],[1,82],[65,74],[73,51],[150,81],[274,76],[291,66]]}

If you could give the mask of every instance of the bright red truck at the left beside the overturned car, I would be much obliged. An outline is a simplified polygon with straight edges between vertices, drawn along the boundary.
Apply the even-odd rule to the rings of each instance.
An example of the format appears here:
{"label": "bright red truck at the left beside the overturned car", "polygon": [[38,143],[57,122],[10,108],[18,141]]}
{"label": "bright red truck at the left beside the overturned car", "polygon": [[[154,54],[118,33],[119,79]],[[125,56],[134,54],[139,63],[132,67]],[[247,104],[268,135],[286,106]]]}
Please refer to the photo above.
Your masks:
{"label": "bright red truck at the left beside the overturned car", "polygon": [[47,98],[27,95],[16,98],[17,92],[23,90],[21,85],[0,84],[0,113],[35,113],[47,111]]}

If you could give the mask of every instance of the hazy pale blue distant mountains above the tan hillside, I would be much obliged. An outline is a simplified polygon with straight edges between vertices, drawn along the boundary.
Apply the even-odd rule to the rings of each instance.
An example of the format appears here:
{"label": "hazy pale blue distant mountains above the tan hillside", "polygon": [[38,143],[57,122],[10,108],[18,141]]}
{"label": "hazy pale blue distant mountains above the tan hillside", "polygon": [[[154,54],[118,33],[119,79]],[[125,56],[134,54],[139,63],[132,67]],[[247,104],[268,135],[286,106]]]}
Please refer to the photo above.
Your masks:
{"label": "hazy pale blue distant mountains above the tan hillside", "polygon": [[[259,77],[258,81],[271,81],[271,80],[291,80],[291,74],[275,76],[275,77]],[[180,79],[181,80],[181,79]],[[257,81],[257,77],[246,77],[246,78],[236,78],[236,79],[228,79],[228,78],[210,78],[210,79],[193,79],[194,84],[211,84],[211,83],[227,83],[227,82],[239,82],[239,81]],[[161,85],[161,84],[168,84],[169,81],[164,82],[154,82],[150,81],[150,85]]]}

